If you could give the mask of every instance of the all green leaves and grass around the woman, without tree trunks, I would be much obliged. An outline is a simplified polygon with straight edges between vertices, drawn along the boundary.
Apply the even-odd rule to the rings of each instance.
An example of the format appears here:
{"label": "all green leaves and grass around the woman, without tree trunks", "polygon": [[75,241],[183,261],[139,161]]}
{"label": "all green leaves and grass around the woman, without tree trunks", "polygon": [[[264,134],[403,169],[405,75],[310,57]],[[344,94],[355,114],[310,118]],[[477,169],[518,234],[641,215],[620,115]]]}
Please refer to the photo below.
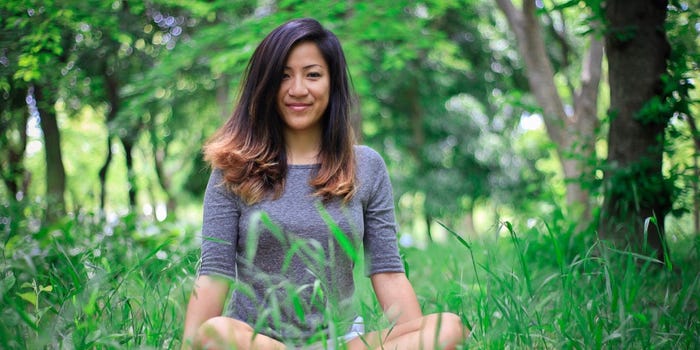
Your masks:
{"label": "all green leaves and grass around the woman, without tree trunks", "polygon": [[[591,23],[602,19],[601,2],[536,3],[557,88],[568,91],[581,70],[575,49],[599,34]],[[686,199],[697,200],[690,159],[699,136],[683,121],[697,114],[698,13],[697,0],[670,3],[666,90],[643,116],[670,118],[672,181],[652,185],[680,190],[674,209],[684,214],[693,201]],[[574,234],[578,223],[560,209],[565,182],[551,140],[541,126],[523,127],[538,111],[523,63],[494,5],[470,0],[3,2],[0,343],[179,347],[198,258],[198,229],[189,222],[200,220],[208,176],[200,146],[230,113],[255,45],[301,16],[319,19],[343,43],[360,136],[387,160],[404,233],[420,235],[410,225],[416,216],[454,223],[480,205],[506,207],[496,226],[480,220],[484,235],[465,238],[449,225],[440,229],[447,244],[402,251],[424,311],[456,312],[471,326],[466,347],[695,346],[697,236],[669,231],[668,270],[594,232]],[[562,29],[574,35],[563,38]],[[45,165],[30,93],[44,82],[56,100],[72,199],[52,225],[40,219]],[[110,135],[133,142],[131,172]],[[111,150],[101,212],[98,173]],[[139,189],[139,204],[151,211],[164,201],[180,208],[165,221],[124,212],[129,189]],[[503,212],[514,224],[499,222]],[[361,275],[359,312],[370,327],[385,325]]]}

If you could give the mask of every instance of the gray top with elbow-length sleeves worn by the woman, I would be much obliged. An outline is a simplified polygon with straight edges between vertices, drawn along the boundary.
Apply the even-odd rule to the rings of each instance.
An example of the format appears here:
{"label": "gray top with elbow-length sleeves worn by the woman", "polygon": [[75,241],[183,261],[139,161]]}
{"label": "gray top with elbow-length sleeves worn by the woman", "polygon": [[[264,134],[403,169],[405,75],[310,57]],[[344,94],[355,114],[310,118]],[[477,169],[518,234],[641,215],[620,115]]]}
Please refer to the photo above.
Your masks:
{"label": "gray top with elbow-length sleeves worn by the woman", "polygon": [[271,337],[303,341],[330,320],[352,318],[361,243],[367,275],[404,271],[386,165],[366,146],[355,146],[355,156],[358,187],[346,204],[313,196],[309,180],[319,165],[290,165],[282,196],[253,205],[228,191],[214,169],[204,195],[199,274],[235,281],[225,315]]}

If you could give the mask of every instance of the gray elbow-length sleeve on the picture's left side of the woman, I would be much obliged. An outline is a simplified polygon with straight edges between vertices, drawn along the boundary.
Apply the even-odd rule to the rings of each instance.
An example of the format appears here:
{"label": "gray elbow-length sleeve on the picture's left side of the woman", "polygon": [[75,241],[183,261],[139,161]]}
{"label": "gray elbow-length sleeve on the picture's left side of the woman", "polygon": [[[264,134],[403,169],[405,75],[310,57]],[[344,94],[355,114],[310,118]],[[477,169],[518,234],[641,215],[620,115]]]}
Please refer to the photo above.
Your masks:
{"label": "gray elbow-length sleeve on the picture's left side of the woman", "polygon": [[239,218],[238,198],[223,185],[221,170],[214,169],[204,192],[199,275],[235,278]]}

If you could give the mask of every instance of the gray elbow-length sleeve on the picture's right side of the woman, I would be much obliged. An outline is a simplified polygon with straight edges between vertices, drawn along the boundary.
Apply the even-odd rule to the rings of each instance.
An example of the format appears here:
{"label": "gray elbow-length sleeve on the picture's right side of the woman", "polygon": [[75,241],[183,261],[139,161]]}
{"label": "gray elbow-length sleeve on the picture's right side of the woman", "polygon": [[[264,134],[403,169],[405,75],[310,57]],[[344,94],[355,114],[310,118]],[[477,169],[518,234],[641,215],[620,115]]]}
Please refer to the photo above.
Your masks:
{"label": "gray elbow-length sleeve on the picture's right side of the woman", "polygon": [[372,151],[369,163],[372,184],[364,210],[365,273],[371,276],[381,272],[404,272],[396,239],[394,197],[389,172],[381,156]]}

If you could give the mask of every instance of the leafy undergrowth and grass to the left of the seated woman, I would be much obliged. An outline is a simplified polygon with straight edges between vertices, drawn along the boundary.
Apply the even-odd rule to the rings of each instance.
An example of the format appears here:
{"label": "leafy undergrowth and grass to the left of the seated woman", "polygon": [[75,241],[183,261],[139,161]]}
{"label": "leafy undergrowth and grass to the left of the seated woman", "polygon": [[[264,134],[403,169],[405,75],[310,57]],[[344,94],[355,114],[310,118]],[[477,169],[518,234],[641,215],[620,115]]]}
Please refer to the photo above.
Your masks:
{"label": "leafy undergrowth and grass to the left of the seated woman", "polygon": [[91,214],[41,228],[36,208],[1,209],[5,346],[160,348],[178,337],[198,253],[190,229]]}

